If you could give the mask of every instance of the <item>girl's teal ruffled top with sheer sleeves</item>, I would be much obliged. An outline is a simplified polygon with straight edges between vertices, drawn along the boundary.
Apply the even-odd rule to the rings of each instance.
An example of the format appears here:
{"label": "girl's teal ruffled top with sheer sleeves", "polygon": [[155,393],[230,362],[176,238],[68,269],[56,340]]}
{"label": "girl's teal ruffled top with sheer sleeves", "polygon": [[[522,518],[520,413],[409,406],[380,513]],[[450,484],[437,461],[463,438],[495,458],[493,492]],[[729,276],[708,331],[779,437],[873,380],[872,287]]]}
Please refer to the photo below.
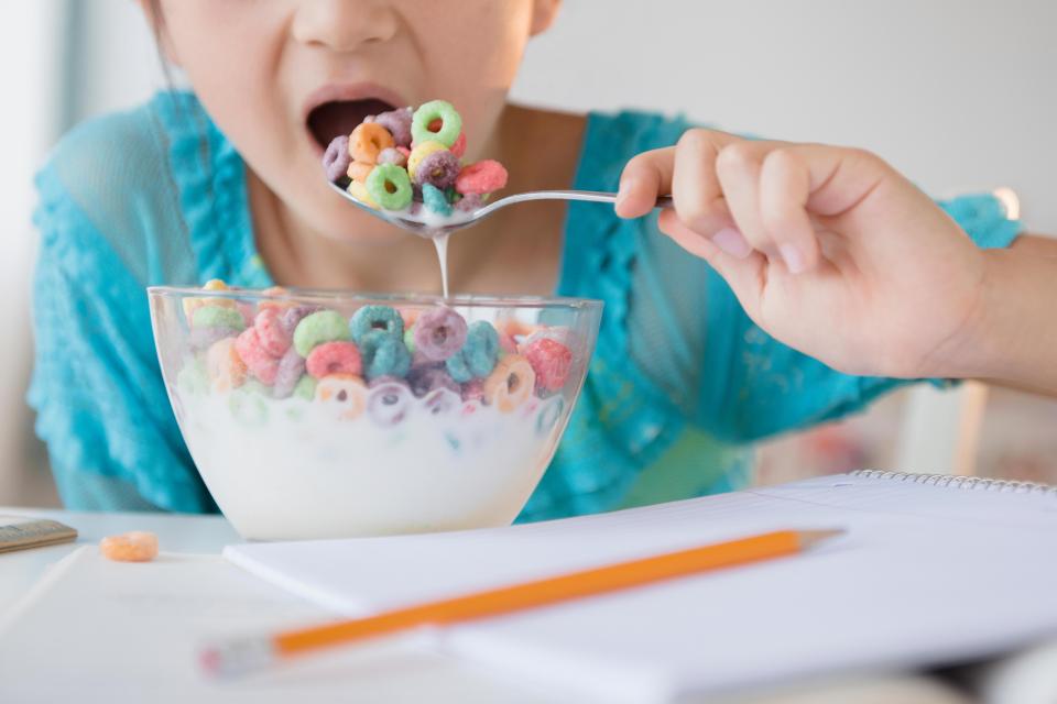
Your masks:
{"label": "girl's teal ruffled top with sheer sleeves", "polygon": [[[682,119],[591,114],[576,188],[615,190],[626,161]],[[74,130],[37,176],[36,363],[30,403],[63,501],[214,512],[170,408],[144,288],[266,287],[246,168],[189,94]],[[990,195],[941,204],[981,246],[1020,227]],[[522,519],[743,486],[754,440],[860,410],[903,382],[839,374],[773,340],[652,218],[574,204],[556,293],[606,304],[557,454]]]}

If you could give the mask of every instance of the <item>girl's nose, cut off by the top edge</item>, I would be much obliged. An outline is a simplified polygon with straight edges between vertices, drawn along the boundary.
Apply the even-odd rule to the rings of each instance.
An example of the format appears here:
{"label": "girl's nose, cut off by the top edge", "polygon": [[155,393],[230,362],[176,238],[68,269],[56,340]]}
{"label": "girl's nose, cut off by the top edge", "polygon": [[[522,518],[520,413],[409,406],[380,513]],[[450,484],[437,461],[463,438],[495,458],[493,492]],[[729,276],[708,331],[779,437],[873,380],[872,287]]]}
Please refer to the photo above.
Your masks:
{"label": "girl's nose, cut off by the top edge", "polygon": [[294,16],[293,35],[303,44],[350,52],[391,38],[397,25],[388,0],[305,0]]}

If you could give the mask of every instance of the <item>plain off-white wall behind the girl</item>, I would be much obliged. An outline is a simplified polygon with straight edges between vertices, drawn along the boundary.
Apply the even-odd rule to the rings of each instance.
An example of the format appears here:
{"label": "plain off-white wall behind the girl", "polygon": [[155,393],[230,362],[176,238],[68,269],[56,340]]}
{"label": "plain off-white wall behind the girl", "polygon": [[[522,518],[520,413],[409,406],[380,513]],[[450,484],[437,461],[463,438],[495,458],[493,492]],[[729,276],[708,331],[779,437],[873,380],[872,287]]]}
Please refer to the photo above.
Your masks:
{"label": "plain off-white wall behind the girl", "polygon": [[[96,112],[157,78],[134,3],[91,8]],[[935,195],[1011,186],[1057,233],[1054,28],[1053,0],[565,0],[514,97],[865,146]]]}

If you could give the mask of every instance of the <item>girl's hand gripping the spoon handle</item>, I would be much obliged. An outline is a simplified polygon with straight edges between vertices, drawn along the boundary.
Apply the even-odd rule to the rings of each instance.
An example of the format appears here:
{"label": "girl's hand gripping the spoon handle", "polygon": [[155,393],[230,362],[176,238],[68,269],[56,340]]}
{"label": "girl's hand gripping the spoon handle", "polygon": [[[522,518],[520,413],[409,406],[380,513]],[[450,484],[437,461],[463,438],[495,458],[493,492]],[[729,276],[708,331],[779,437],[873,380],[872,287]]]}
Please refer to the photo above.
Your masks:
{"label": "girl's hand gripping the spoon handle", "polygon": [[774,338],[849,373],[946,375],[971,339],[983,252],[879,157],[690,130],[640,154],[617,212],[675,209],[662,232],[728,282]]}

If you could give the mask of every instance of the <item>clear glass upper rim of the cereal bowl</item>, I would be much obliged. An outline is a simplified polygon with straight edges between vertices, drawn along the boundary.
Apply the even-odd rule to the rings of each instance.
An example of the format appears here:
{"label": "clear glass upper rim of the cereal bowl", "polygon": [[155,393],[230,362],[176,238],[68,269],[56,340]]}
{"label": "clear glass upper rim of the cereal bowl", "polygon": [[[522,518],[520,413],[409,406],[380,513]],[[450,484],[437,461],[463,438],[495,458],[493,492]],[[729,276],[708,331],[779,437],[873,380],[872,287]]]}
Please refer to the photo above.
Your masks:
{"label": "clear glass upper rim of the cereal bowl", "polygon": [[284,293],[268,293],[264,288],[244,288],[231,286],[219,290],[207,290],[197,286],[148,286],[151,298],[231,298],[252,300],[288,300],[291,302],[340,301],[346,304],[390,304],[390,305],[446,305],[455,307],[488,308],[574,308],[598,309],[603,306],[596,298],[576,298],[568,296],[497,296],[497,295],[456,295],[445,298],[438,294],[378,294],[370,292],[350,292],[326,288],[282,287]]}

